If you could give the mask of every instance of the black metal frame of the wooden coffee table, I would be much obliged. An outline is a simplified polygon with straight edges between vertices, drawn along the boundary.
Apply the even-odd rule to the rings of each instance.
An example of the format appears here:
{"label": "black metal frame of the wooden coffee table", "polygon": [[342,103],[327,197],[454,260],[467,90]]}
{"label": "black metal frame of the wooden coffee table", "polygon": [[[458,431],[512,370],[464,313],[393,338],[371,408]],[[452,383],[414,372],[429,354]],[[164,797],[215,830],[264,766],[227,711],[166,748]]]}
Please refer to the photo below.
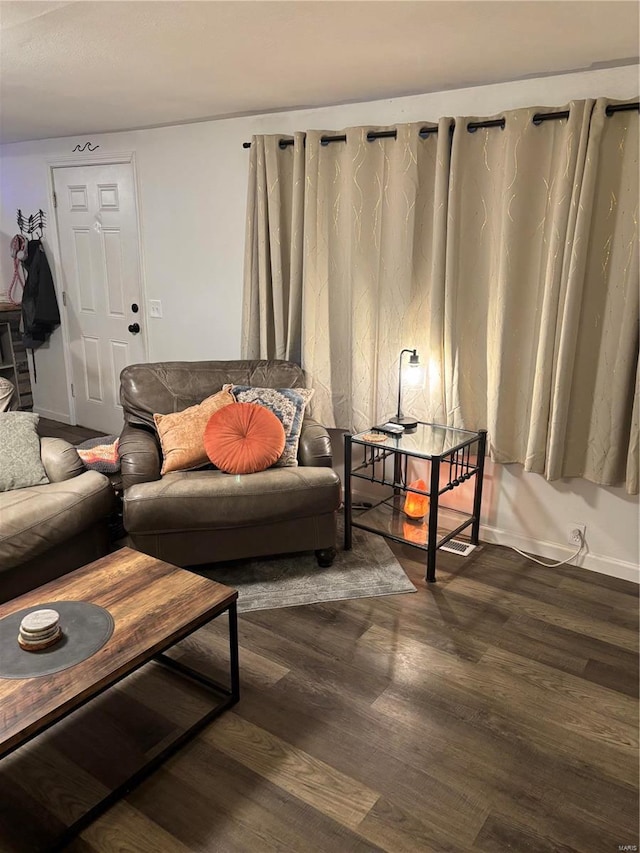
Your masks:
{"label": "black metal frame of the wooden coffee table", "polygon": [[[171,657],[168,657],[164,652],[168,651],[172,648],[176,643],[181,642],[187,637],[191,636],[191,634],[195,633],[195,631],[202,628],[204,625],[207,625],[209,622],[212,622],[214,619],[217,619],[222,613],[229,613],[229,685],[219,684],[217,681],[214,681],[211,678],[203,675],[201,672],[192,669],[190,666],[183,664],[181,661],[174,660]],[[184,633],[180,633],[177,637],[174,635],[171,637],[171,640],[160,647],[159,651],[155,654],[151,655],[151,657],[141,661],[137,666],[134,666],[132,669],[123,673],[122,675],[115,678],[113,681],[110,681],[104,687],[100,688],[95,693],[92,693],[87,699],[81,702],[79,705],[74,705],[73,708],[70,708],[60,717],[57,717],[55,720],[52,720],[46,726],[38,729],[32,735],[30,735],[25,740],[21,741],[17,746],[8,750],[0,757],[5,757],[10,755],[12,752],[15,752],[20,747],[24,746],[29,741],[33,740],[33,738],[38,737],[47,729],[51,728],[51,726],[59,723],[60,720],[63,720],[69,714],[77,711],[79,708],[82,708],[88,702],[91,702],[92,699],[95,699],[97,696],[100,696],[110,687],[113,687],[114,684],[117,684],[119,681],[122,681],[124,678],[127,678],[129,675],[132,675],[134,672],[139,670],[141,667],[150,663],[151,661],[156,661],[157,663],[166,666],[168,669],[172,669],[176,672],[181,673],[182,675],[187,676],[192,681],[195,681],[202,687],[207,688],[208,690],[218,694],[222,697],[221,701],[211,710],[208,711],[204,716],[200,717],[195,723],[189,726],[182,734],[178,735],[177,738],[171,741],[164,749],[155,755],[153,758],[149,759],[145,764],[142,765],[135,773],[125,779],[117,788],[114,788],[113,791],[110,791],[106,797],[103,797],[98,803],[92,806],[87,812],[85,812],[81,817],[79,817],[76,821],[74,821],[70,826],[68,826],[61,835],[55,839],[55,841],[47,844],[46,847],[43,848],[43,851],[47,851],[47,853],[56,853],[56,851],[62,851],[65,847],[77,836],[83,829],[86,829],[89,824],[93,823],[96,818],[100,817],[107,809],[109,809],[114,803],[118,800],[122,799],[124,796],[129,794],[134,788],[136,788],[141,782],[143,782],[148,776],[153,773],[161,764],[163,764],[168,758],[170,758],[175,752],[177,752],[185,743],[194,738],[198,732],[202,731],[205,726],[207,726],[213,719],[219,716],[223,711],[226,711],[228,708],[231,708],[235,705],[240,699],[240,668],[239,668],[239,653],[238,653],[238,614],[237,614],[237,605],[236,601],[232,601],[226,607],[220,609],[217,613],[214,613],[213,616],[210,616],[204,619],[202,622],[197,624],[195,627],[191,628],[189,631]]]}

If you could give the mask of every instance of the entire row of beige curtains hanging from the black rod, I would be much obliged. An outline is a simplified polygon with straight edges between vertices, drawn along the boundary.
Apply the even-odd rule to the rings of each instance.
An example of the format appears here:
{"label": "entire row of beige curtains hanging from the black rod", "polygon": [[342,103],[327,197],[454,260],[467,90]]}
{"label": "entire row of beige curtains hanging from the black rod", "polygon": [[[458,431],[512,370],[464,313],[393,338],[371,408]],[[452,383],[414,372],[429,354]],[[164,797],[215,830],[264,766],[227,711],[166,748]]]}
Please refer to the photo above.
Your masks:
{"label": "entire row of beige curtains hanging from the black rod", "polygon": [[[638,113],[576,101],[251,148],[243,348],[299,352],[327,426],[403,408],[486,427],[491,455],[548,479],[638,491]],[[332,135],[335,132],[328,132]]]}

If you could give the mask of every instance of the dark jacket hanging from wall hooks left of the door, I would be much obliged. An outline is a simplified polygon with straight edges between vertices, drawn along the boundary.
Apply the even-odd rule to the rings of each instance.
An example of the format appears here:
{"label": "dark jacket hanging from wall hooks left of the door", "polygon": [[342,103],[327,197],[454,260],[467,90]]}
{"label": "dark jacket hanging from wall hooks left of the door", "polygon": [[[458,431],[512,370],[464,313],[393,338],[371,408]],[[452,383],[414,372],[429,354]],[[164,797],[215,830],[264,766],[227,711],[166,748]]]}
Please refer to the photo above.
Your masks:
{"label": "dark jacket hanging from wall hooks left of the door", "polygon": [[27,278],[22,294],[22,339],[27,349],[37,349],[60,325],[53,276],[40,240],[29,240],[23,265]]}

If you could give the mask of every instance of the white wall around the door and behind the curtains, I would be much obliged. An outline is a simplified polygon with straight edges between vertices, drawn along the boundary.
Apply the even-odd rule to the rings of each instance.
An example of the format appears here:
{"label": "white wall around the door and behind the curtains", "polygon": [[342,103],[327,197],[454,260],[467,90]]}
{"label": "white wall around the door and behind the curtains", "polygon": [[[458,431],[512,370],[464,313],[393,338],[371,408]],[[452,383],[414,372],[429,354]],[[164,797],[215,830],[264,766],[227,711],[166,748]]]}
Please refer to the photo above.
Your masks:
{"label": "white wall around the door and behind the curtains", "polygon": [[[638,67],[580,72],[348,104],[272,113],[154,130],[91,136],[100,154],[135,152],[147,299],[161,299],[161,320],[146,322],[149,359],[237,358],[240,354],[244,211],[248,152],[254,133],[337,130],[360,124],[435,121],[443,115],[489,116],[525,106],[553,107],[574,98],[638,95]],[[15,213],[53,213],[48,162],[71,157],[87,138],[51,139],[0,149],[0,293],[11,279],[9,241]],[[48,230],[48,236],[54,229]],[[46,235],[47,236],[47,235]],[[53,241],[55,242],[55,241]],[[47,243],[47,240],[45,240]],[[49,244],[58,262],[57,247]],[[37,353],[35,408],[69,418],[62,334]],[[494,536],[538,553],[562,555],[569,522],[588,525],[586,565],[639,577],[638,501],[620,489],[582,480],[559,484],[523,474],[519,466],[490,467],[484,515]],[[549,543],[544,545],[544,543]]]}

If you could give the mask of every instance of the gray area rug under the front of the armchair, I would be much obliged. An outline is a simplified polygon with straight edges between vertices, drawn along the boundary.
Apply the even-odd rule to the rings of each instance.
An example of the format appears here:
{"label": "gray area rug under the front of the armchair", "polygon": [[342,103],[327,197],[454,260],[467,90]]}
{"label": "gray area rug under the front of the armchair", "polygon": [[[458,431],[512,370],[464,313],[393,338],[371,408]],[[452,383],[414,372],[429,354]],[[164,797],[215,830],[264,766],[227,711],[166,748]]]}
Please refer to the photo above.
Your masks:
{"label": "gray area rug under the front of the armchair", "polygon": [[194,566],[192,571],[238,590],[238,611],[296,607],[320,601],[416,592],[381,536],[353,530],[353,548],[339,550],[328,569],[315,554],[290,554]]}

